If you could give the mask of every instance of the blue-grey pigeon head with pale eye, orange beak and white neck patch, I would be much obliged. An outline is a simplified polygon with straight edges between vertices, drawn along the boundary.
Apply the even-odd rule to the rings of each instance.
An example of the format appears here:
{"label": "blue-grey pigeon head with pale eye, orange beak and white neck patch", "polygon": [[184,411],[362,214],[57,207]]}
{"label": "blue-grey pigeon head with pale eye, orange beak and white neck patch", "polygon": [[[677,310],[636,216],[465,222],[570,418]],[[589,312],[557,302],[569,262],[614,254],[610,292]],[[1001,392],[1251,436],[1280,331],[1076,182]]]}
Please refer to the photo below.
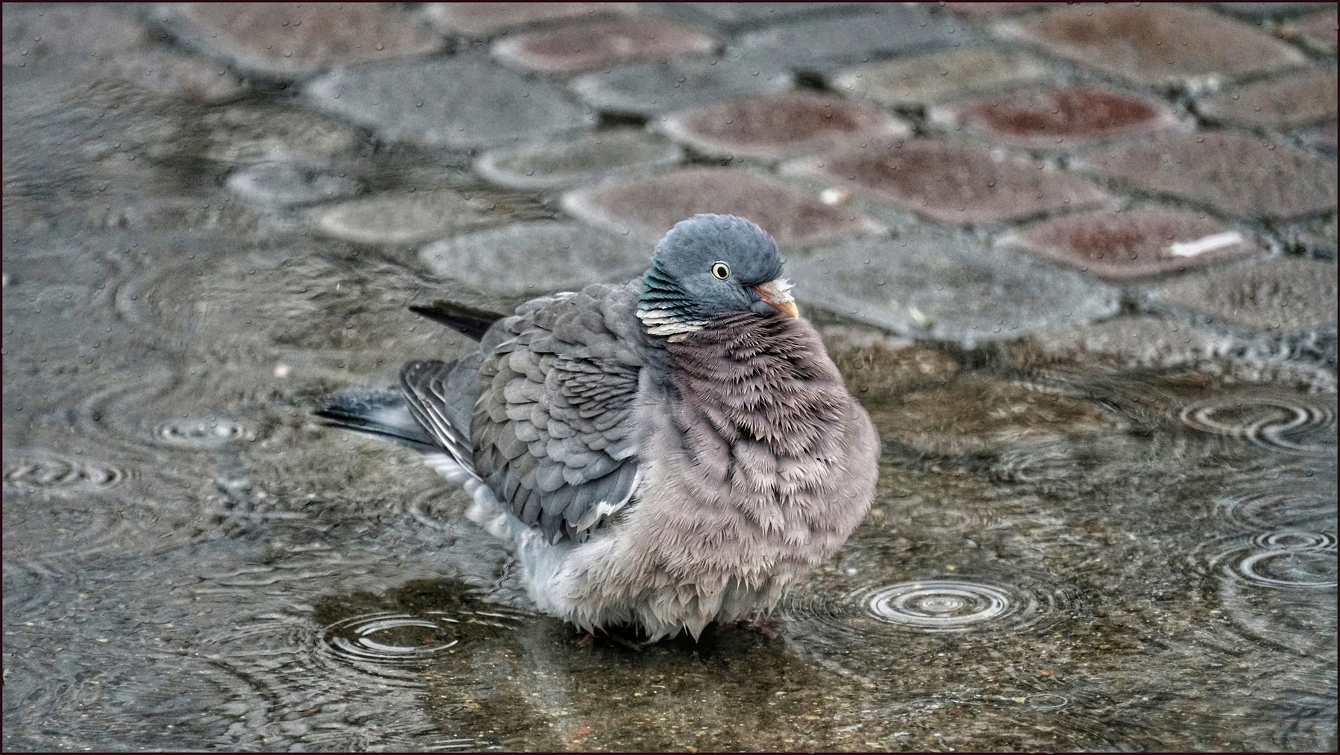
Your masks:
{"label": "blue-grey pigeon head with pale eye, orange beak and white neck patch", "polygon": [[654,336],[699,331],[721,315],[785,312],[799,316],[781,280],[777,242],[736,216],[694,216],[657,244],[642,282],[638,317]]}

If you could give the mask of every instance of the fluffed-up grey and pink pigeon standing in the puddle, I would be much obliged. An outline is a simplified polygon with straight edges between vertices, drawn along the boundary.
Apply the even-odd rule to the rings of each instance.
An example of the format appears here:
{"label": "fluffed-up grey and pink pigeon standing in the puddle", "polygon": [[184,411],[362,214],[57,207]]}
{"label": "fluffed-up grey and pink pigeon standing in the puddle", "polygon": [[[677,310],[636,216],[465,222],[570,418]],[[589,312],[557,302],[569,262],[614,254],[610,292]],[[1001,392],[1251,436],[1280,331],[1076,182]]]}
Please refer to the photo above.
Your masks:
{"label": "fluffed-up grey and pink pigeon standing in the puddle", "polygon": [[540,609],[588,632],[698,637],[776,606],[875,493],[875,428],[781,268],[757,225],[695,216],[641,280],[511,316],[419,309],[478,348],[318,414],[464,487]]}

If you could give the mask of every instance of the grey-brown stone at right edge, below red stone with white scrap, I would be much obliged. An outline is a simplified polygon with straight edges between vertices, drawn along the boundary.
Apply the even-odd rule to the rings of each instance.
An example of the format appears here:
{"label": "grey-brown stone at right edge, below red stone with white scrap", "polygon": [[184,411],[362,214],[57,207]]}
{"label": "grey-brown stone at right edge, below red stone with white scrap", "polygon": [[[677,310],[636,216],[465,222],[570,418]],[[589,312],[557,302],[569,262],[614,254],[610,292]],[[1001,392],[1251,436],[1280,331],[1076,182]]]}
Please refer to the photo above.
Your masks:
{"label": "grey-brown stone at right edge, below red stone with white scrap", "polygon": [[1163,311],[1190,312],[1198,321],[1289,333],[1336,328],[1336,266],[1270,257],[1187,273],[1148,292]]}

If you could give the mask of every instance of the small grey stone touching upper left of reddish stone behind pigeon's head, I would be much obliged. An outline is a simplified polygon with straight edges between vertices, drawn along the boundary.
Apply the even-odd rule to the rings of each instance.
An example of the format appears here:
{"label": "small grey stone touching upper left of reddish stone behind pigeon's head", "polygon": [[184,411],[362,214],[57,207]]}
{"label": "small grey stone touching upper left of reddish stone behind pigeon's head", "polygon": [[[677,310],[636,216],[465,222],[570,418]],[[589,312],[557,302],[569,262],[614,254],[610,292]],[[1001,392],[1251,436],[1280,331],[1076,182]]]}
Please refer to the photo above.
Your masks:
{"label": "small grey stone touching upper left of reddish stone behind pigeon's head", "polygon": [[574,142],[540,142],[485,153],[474,169],[513,189],[595,183],[615,174],[679,162],[683,150],[642,130],[596,131]]}

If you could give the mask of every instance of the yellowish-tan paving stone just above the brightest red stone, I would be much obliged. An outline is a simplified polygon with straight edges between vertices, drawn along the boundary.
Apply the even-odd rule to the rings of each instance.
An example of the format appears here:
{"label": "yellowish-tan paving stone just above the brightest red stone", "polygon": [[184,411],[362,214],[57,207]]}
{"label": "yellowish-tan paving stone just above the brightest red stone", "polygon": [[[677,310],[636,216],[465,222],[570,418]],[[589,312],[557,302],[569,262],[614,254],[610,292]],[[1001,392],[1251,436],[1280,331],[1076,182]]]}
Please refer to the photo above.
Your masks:
{"label": "yellowish-tan paving stone just above the brightest red stone", "polygon": [[847,68],[833,88],[898,107],[954,99],[973,92],[1045,82],[1055,74],[1038,58],[998,47],[962,47],[907,55]]}

